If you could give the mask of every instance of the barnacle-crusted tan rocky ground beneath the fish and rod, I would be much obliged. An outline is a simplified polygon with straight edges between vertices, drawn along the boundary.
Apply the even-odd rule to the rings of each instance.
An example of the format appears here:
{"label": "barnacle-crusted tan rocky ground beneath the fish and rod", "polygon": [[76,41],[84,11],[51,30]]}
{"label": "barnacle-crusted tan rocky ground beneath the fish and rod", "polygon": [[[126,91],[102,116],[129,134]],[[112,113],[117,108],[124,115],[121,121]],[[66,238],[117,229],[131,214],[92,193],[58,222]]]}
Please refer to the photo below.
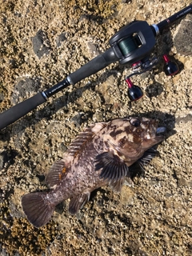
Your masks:
{"label": "barnacle-crusted tan rocky ground beneath the fish and rod", "polygon": [[[184,0],[1,0],[0,110],[66,78],[109,47],[128,22],[154,24],[190,5]],[[145,96],[130,102],[118,63],[69,86],[37,110],[0,131],[0,255],[192,254],[191,14],[157,38],[181,69],[166,77],[162,60],[135,77]],[[128,115],[159,118],[166,126],[160,155],[123,186],[101,188],[71,216],[60,204],[46,226],[26,220],[21,197],[44,190],[44,175],[77,134],[92,122]]]}

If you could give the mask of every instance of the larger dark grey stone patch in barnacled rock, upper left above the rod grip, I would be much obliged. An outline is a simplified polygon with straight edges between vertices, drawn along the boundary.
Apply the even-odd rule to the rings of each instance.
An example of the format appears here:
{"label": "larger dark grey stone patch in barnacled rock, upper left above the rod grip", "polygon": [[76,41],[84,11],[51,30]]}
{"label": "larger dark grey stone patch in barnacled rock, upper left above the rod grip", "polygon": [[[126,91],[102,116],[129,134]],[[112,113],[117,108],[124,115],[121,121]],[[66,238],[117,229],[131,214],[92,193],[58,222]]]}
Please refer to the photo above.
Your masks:
{"label": "larger dark grey stone patch in barnacled rock, upper left above the rod grip", "polygon": [[50,54],[50,41],[46,36],[46,33],[42,30],[38,30],[37,34],[32,38],[34,54],[38,58]]}

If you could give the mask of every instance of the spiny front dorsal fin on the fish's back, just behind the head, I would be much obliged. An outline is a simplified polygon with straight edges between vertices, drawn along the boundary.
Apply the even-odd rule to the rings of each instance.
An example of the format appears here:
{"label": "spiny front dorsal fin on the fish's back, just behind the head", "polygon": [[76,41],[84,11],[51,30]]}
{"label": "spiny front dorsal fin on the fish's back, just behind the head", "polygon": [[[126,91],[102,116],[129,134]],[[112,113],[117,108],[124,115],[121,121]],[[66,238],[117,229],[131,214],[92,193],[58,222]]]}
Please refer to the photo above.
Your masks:
{"label": "spiny front dorsal fin on the fish's back, just behind the head", "polygon": [[96,124],[87,127],[78,134],[78,137],[76,137],[73,142],[71,142],[67,153],[71,156],[76,156],[79,152],[85,149],[87,143],[90,142],[94,134],[97,134],[104,126],[106,126],[106,123],[97,122]]}

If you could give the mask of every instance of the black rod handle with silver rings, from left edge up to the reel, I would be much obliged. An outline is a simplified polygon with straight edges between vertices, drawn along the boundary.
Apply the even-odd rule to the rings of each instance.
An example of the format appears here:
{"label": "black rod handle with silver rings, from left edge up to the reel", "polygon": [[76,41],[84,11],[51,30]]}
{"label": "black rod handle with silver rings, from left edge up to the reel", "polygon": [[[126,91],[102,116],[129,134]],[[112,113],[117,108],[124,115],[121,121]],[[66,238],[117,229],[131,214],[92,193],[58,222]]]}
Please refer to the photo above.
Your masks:
{"label": "black rod handle with silver rings, from left edge up to the reel", "polygon": [[110,48],[103,54],[100,54],[90,60],[90,62],[87,62],[80,69],[74,71],[74,73],[68,75],[68,77],[62,80],[62,82],[58,82],[58,84],[52,86],[50,89],[39,92],[33,97],[26,99],[26,101],[12,106],[9,110],[0,114],[0,130],[17,121],[19,118],[22,118],[31,110],[34,110],[37,106],[46,102],[48,98],[57,94],[67,86],[80,82],[83,78],[97,73],[99,70],[104,69],[106,66],[110,65],[110,63],[116,62],[117,60],[118,58],[115,56],[113,49]]}

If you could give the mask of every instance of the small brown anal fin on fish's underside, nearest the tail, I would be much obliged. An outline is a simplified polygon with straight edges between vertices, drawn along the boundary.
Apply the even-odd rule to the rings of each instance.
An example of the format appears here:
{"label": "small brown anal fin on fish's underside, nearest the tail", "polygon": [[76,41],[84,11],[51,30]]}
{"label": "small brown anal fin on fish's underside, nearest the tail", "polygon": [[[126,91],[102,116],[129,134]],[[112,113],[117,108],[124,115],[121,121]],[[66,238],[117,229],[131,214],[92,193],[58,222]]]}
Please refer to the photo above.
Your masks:
{"label": "small brown anal fin on fish's underside, nearest the tail", "polygon": [[82,208],[90,199],[90,193],[79,194],[70,199],[69,212],[70,214],[77,214],[78,210]]}

